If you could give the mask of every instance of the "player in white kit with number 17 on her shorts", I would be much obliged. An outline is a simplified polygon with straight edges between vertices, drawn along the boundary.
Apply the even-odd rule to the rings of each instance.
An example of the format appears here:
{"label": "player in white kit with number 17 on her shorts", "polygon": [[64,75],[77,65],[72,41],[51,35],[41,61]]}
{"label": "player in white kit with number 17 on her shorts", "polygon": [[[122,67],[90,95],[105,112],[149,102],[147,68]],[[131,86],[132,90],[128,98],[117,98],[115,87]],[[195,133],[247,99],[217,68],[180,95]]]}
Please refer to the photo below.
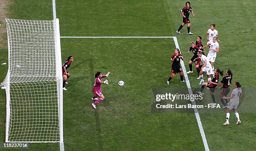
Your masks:
{"label": "player in white kit with number 17 on her shorts", "polygon": [[[218,37],[216,37],[216,36],[213,37],[211,43],[208,43],[207,45],[205,45],[204,47],[202,47],[202,49],[203,49],[203,48],[206,48],[206,47],[210,46],[210,48],[209,48],[209,53],[208,53],[208,55],[207,55],[207,58],[208,58],[208,60],[210,61],[211,65],[212,65],[212,71],[214,70],[213,64],[214,64],[214,62],[215,62],[216,55],[217,55],[217,53],[219,52],[219,48],[220,48],[220,45],[219,45],[219,43],[217,42],[217,39],[218,39]],[[213,74],[213,76],[214,76],[214,73],[213,73],[213,72],[212,72],[212,74]]]}

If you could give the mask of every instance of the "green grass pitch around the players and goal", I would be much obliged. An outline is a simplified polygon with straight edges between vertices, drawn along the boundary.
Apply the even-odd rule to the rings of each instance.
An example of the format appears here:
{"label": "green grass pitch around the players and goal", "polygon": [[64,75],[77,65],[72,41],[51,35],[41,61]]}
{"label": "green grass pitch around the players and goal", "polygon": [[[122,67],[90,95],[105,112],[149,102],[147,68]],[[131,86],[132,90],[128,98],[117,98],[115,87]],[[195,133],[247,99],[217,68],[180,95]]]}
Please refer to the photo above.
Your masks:
{"label": "green grass pitch around the players and goal", "polygon": [[[210,24],[219,32],[220,52],[215,67],[233,71],[233,82],[243,89],[255,89],[256,10],[253,0],[191,0],[195,13],[189,17],[191,32],[182,28],[180,0],[56,0],[56,16],[61,36],[176,36],[184,64],[192,54],[187,49],[197,36],[206,44]],[[53,20],[52,1],[11,0],[6,18]],[[4,27],[0,27],[4,28]],[[8,62],[7,35],[0,60]],[[175,44],[168,39],[76,39],[61,38],[62,62],[74,56],[71,77],[64,91],[64,146],[72,150],[204,150],[193,113],[151,113],[152,88],[183,88],[171,73],[170,56]],[[0,81],[8,66],[0,65]],[[193,64],[193,70],[195,66]],[[92,86],[97,71],[107,73],[109,85],[102,86],[105,100],[97,110],[91,106]],[[188,75],[193,88],[200,88],[197,74]],[[222,78],[222,77],[221,77]],[[118,81],[125,86],[118,86]],[[220,91],[219,89],[217,91]],[[255,93],[255,91],[252,91]],[[220,103],[218,96],[215,96]],[[210,100],[209,100],[210,102]],[[241,108],[255,108],[245,97]],[[5,141],[5,91],[0,90],[0,142]],[[239,108],[238,108],[239,113]],[[253,110],[240,113],[242,124],[230,112],[230,126],[223,126],[225,112],[201,113],[200,118],[210,150],[255,150],[256,122]],[[1,150],[1,148],[0,148]],[[31,143],[27,150],[59,150],[58,143]]]}

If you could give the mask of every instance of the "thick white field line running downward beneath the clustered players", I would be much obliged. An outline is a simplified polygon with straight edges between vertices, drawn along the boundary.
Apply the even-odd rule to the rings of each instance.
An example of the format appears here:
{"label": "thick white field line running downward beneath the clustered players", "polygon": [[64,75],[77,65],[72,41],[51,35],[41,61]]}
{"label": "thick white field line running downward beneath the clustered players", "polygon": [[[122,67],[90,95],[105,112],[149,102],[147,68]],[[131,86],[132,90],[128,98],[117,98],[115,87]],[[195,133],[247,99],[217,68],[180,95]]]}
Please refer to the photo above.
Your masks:
{"label": "thick white field line running downward beneath the clustered players", "polygon": [[[176,45],[176,48],[179,48],[177,38],[174,37],[173,39],[174,39],[174,43]],[[182,70],[183,70],[183,73],[184,73],[184,76],[185,76],[185,79],[186,79],[186,83],[187,83],[187,89],[189,91],[189,95],[191,96],[193,93],[192,93],[192,89],[190,87],[189,78],[187,77],[187,71],[186,71],[183,60],[181,60],[180,64],[182,65]],[[196,105],[195,101],[192,101],[192,104]],[[197,118],[197,124],[198,124],[199,130],[200,130],[200,133],[201,133],[201,136],[202,136],[202,140],[203,140],[203,143],[204,143],[204,146],[205,146],[205,151],[209,151],[209,147],[208,147],[207,140],[206,140],[206,137],[205,137],[205,132],[204,132],[204,129],[202,127],[201,119],[200,119],[197,108],[194,108],[194,112],[195,112],[195,116]]]}

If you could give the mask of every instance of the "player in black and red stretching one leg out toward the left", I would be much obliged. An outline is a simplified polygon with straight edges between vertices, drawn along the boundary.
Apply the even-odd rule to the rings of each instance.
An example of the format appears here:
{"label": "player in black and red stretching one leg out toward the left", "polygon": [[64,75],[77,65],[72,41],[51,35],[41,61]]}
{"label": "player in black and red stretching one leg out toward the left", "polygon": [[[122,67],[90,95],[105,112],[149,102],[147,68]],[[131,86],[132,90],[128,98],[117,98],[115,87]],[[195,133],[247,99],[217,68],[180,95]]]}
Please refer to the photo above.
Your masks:
{"label": "player in black and red stretching one leg out toward the left", "polygon": [[220,71],[220,69],[216,68],[214,70],[214,74],[215,76],[212,78],[212,80],[210,80],[208,83],[206,82],[202,83],[200,92],[197,92],[199,94],[202,94],[202,91],[205,88],[205,86],[207,88],[210,88],[210,94],[212,96],[212,104],[216,104],[214,91],[215,91],[215,87],[218,85],[218,82],[219,82],[219,75],[223,76],[223,71]]}

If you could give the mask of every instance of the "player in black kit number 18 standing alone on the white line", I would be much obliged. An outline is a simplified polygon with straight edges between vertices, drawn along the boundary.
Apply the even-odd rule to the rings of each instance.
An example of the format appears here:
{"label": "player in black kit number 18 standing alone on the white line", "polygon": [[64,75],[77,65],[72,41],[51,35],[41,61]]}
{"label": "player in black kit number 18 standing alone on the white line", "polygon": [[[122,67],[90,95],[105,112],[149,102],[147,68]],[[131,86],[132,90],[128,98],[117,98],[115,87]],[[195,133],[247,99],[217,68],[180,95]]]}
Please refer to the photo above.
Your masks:
{"label": "player in black kit number 18 standing alone on the white line", "polygon": [[172,61],[172,74],[169,77],[167,84],[170,84],[170,81],[172,78],[175,76],[176,73],[180,74],[180,82],[186,82],[183,80],[183,71],[182,68],[180,67],[179,63],[180,60],[184,60],[182,54],[180,54],[180,51],[178,48],[174,49],[174,54],[172,55],[171,61]]}

